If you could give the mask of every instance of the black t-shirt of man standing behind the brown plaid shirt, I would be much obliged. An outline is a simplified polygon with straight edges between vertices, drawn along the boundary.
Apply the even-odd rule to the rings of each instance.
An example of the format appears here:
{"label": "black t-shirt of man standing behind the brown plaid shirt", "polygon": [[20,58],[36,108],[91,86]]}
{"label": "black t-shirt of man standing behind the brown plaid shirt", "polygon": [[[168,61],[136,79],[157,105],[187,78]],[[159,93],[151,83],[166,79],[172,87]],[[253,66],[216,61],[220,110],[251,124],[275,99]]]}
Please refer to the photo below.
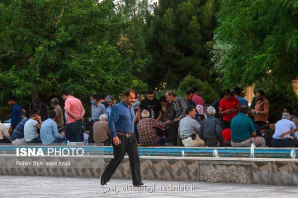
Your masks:
{"label": "black t-shirt of man standing behind the brown plaid shirt", "polygon": [[150,113],[150,118],[154,118],[156,119],[159,115],[159,111],[161,110],[161,103],[158,99],[153,99],[152,101],[150,101],[148,98],[143,99],[141,104],[140,104],[140,108],[142,110],[148,110]]}

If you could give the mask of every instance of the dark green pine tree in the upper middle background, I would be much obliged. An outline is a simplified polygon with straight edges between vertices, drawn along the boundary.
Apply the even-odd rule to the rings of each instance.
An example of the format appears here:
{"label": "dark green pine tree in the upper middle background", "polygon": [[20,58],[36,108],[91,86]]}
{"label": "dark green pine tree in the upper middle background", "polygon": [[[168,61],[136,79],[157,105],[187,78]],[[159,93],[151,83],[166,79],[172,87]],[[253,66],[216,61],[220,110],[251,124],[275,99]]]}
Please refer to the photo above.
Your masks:
{"label": "dark green pine tree in the upper middle background", "polygon": [[213,81],[207,42],[213,39],[218,4],[218,0],[159,0],[146,23],[151,59],[145,73],[151,75],[145,80],[150,86],[165,81],[177,87],[188,74]]}

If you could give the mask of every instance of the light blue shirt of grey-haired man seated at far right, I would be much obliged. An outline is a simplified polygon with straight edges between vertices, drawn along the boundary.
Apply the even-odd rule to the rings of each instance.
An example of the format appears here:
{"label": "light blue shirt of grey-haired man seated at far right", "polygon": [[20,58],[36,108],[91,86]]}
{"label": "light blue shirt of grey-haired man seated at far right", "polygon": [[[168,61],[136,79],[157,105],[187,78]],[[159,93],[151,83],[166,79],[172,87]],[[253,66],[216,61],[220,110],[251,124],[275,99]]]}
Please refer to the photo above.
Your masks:
{"label": "light blue shirt of grey-haired man seated at far right", "polygon": [[[275,132],[272,136],[274,139],[281,139],[282,133],[295,129],[296,125],[293,121],[288,119],[281,119],[275,124]],[[295,139],[298,139],[297,132],[291,134]],[[290,138],[290,134],[285,135],[284,138]]]}

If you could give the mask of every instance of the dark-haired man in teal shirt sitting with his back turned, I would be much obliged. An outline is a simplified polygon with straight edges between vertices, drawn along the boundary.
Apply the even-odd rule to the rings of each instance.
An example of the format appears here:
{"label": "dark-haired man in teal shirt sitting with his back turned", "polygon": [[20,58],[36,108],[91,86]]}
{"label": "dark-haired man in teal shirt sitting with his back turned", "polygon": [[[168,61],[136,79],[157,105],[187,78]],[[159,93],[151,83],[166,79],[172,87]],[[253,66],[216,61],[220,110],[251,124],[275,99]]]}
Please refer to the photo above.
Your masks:
{"label": "dark-haired man in teal shirt sitting with his back turned", "polygon": [[256,147],[265,147],[265,139],[257,137],[256,129],[251,118],[247,117],[248,107],[241,106],[238,115],[231,122],[231,146],[250,147],[253,143]]}

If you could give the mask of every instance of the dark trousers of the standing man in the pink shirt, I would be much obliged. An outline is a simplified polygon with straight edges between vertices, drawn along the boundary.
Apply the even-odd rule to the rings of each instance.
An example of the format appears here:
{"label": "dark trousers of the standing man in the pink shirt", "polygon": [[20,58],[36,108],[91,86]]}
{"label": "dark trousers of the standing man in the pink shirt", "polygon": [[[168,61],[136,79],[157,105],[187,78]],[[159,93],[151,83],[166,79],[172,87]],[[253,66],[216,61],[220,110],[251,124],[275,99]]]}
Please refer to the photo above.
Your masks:
{"label": "dark trousers of the standing man in the pink shirt", "polygon": [[74,121],[65,126],[65,135],[70,142],[81,142],[82,121]]}

